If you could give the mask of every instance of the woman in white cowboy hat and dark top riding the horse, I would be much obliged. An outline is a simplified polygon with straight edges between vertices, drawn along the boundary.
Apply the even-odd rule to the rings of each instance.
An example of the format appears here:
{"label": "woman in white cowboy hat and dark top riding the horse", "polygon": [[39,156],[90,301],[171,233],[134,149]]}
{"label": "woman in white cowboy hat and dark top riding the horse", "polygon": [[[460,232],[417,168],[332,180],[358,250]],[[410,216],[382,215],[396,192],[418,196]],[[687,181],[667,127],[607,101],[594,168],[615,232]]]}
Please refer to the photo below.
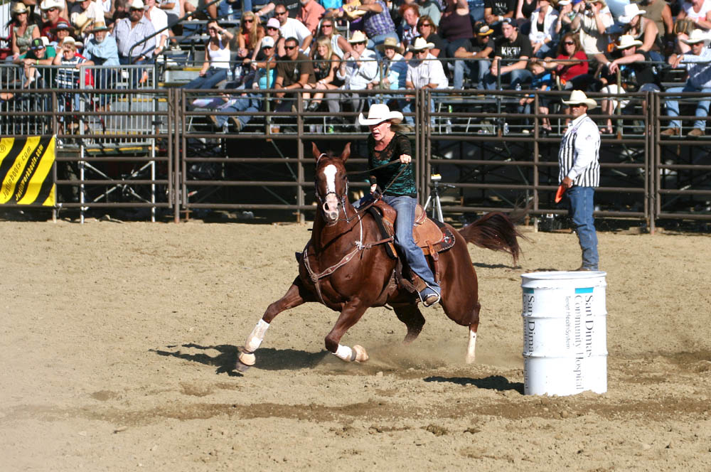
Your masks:
{"label": "woman in white cowboy hat and dark top riding the horse", "polygon": [[[372,169],[370,176],[370,193],[380,186],[383,189],[383,201],[397,212],[395,218],[395,245],[400,254],[417,274],[421,281],[416,281],[419,299],[424,306],[432,306],[440,299],[442,290],[434,281],[432,269],[427,265],[422,250],[412,239],[412,226],[415,224],[415,208],[417,207],[417,187],[415,186],[412,165],[412,148],[407,136],[395,131],[393,125],[402,122],[402,113],[391,112],[387,104],[373,104],[368,110],[368,118],[363,113],[358,117],[358,123],[367,125],[368,136],[368,166]],[[387,163],[400,161],[400,166],[387,166]],[[372,197],[366,197],[372,198]]]}

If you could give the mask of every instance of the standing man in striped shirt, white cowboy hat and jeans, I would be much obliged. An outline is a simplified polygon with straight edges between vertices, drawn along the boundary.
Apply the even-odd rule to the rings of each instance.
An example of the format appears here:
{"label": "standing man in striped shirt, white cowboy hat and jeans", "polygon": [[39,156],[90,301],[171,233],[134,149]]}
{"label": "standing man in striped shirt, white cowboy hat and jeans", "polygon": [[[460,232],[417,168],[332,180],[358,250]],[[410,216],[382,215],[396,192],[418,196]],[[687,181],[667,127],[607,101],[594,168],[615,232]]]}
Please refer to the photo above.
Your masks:
{"label": "standing man in striped shirt, white cowboy hat and jeans", "polygon": [[563,103],[570,105],[574,119],[560,142],[558,180],[570,202],[570,215],[582,249],[582,264],[578,270],[597,270],[593,197],[600,183],[600,132],[587,116],[587,110],[597,107],[597,102],[581,90],[573,90],[570,100]]}

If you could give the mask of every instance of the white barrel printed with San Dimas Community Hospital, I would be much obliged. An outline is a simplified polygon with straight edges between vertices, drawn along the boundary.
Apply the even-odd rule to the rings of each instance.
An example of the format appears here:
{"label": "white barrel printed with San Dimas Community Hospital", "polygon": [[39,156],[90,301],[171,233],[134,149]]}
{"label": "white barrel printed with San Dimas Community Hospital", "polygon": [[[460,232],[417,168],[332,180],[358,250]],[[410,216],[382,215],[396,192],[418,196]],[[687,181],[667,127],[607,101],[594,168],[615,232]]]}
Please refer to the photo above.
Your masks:
{"label": "white barrel printed with San Dimas Community Hospital", "polygon": [[605,272],[532,272],[523,289],[525,395],[607,391]]}

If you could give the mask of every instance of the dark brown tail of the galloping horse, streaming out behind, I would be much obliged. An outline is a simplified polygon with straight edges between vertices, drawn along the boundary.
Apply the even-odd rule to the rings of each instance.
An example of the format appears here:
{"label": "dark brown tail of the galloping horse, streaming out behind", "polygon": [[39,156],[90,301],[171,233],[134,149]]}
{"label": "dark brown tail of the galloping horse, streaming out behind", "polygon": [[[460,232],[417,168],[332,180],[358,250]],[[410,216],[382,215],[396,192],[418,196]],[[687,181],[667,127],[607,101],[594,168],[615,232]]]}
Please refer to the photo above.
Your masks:
{"label": "dark brown tail of the galloping horse, streaming out behind", "polygon": [[461,228],[459,234],[466,242],[476,246],[508,252],[513,257],[514,264],[518,263],[518,257],[521,255],[518,238],[526,239],[516,228],[513,218],[500,211],[483,215],[479,220]]}

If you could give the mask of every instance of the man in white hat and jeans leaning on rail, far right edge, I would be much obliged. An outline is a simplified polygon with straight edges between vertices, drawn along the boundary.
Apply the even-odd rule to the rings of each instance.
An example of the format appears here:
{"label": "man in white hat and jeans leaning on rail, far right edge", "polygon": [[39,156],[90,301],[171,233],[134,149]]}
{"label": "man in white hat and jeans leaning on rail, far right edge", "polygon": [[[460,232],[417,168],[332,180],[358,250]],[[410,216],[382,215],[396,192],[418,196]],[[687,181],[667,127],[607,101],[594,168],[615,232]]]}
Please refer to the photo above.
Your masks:
{"label": "man in white hat and jeans leaning on rail, far right edge", "polygon": [[[686,65],[688,79],[683,87],[671,87],[667,92],[705,92],[711,93],[711,50],[708,48],[708,39],[701,30],[694,30],[688,39],[683,40],[685,44],[691,47],[691,53],[672,55],[669,58],[669,64],[673,68],[678,68],[680,64]],[[709,104],[711,100],[708,98],[695,99],[696,117],[694,129],[687,136],[698,138],[706,134],[706,120],[709,117]],[[670,117],[679,116],[679,102],[672,100],[671,97],[666,99],[666,113]],[[668,129],[661,132],[662,136],[680,136],[681,122],[674,120],[670,122]]]}

